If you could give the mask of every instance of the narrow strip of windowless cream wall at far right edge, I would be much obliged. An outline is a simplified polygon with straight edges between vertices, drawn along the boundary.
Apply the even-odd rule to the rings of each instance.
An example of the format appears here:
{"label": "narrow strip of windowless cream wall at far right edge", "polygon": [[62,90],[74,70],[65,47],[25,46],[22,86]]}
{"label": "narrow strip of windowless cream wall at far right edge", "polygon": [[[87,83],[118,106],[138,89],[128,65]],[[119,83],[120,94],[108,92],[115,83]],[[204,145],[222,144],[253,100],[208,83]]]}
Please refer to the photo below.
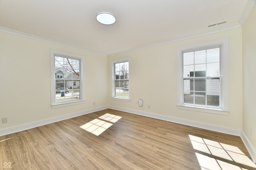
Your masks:
{"label": "narrow strip of windowless cream wall at far right edge", "polygon": [[[256,6],[243,25],[243,133],[256,160]],[[250,135],[252,129],[252,135]]]}

